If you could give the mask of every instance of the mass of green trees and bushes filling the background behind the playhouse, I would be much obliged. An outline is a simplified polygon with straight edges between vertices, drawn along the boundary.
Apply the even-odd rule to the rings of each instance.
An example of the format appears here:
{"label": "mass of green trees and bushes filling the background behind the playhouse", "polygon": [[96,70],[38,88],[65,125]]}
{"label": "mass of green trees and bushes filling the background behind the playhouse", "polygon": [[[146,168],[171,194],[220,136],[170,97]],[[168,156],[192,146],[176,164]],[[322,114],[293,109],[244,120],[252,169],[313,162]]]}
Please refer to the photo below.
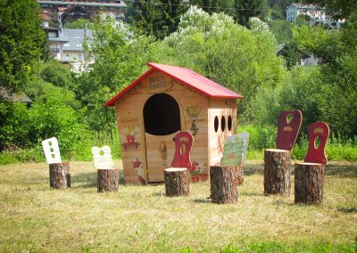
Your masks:
{"label": "mass of green trees and bushes filling the background behind the playhouse", "polygon": [[[90,148],[103,144],[120,158],[115,113],[104,102],[148,69],[148,61],[193,69],[243,94],[238,132],[250,133],[249,159],[262,159],[262,150],[275,146],[279,112],[298,109],[303,127],[294,159],[303,159],[309,124],[321,120],[331,128],[328,159],[356,161],[357,7],[305,2],[320,4],[345,24],[309,26],[306,16],[289,23],[289,0],[128,1],[120,29],[109,19],[68,24],[87,23],[94,31],[85,46],[95,63],[75,74],[50,57],[35,0],[0,0],[0,88],[32,101],[0,96],[0,164],[44,161],[40,143],[53,136],[63,159],[90,160]],[[277,55],[281,43],[286,46]],[[309,53],[320,64],[296,66]]]}

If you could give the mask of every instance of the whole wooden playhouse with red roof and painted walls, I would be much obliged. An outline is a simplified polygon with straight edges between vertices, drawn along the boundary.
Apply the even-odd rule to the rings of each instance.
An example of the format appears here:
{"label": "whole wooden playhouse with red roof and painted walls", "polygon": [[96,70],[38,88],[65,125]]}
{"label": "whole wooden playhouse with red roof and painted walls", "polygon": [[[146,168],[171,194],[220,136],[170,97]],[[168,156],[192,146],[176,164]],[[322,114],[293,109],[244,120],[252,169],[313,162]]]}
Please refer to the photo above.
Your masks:
{"label": "whole wooden playhouse with red roof and painted walls", "polygon": [[117,113],[125,182],[163,182],[179,131],[194,136],[191,180],[206,180],[227,137],[236,134],[243,96],[190,69],[147,64],[151,69],[105,103]]}

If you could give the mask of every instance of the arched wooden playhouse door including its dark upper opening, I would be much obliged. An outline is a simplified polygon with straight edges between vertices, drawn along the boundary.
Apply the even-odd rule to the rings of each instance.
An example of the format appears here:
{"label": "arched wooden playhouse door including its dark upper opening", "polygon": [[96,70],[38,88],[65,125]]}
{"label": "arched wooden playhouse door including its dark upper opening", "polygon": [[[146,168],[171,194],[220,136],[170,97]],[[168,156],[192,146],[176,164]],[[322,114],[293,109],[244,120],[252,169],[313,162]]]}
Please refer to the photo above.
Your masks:
{"label": "arched wooden playhouse door including its dark upper opening", "polygon": [[163,182],[163,170],[171,167],[175,153],[173,137],[181,130],[179,104],[169,94],[154,94],[143,116],[148,182]]}

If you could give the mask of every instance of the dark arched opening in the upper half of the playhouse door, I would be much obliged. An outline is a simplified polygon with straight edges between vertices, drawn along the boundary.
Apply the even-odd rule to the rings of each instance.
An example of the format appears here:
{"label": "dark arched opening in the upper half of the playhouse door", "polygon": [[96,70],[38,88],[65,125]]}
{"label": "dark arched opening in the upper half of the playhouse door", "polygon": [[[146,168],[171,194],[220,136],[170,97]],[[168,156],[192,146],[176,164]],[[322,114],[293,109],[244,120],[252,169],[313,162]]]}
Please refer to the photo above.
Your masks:
{"label": "dark arched opening in the upper half of the playhouse door", "polygon": [[171,135],[181,130],[179,104],[169,94],[154,94],[144,106],[145,132]]}

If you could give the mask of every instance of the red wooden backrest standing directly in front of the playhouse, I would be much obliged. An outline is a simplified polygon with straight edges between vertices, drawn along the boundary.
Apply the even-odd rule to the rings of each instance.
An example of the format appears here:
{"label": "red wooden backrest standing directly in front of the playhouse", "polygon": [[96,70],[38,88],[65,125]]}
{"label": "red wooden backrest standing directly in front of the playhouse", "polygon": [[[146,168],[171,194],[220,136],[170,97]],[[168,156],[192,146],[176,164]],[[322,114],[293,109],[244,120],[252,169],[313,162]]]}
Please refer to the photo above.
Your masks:
{"label": "red wooden backrest standing directly in front of the playhouse", "polygon": [[188,132],[180,132],[175,135],[175,155],[171,162],[172,167],[187,167],[187,169],[192,167],[190,160],[190,152],[192,149],[192,144],[194,143],[194,138]]}

